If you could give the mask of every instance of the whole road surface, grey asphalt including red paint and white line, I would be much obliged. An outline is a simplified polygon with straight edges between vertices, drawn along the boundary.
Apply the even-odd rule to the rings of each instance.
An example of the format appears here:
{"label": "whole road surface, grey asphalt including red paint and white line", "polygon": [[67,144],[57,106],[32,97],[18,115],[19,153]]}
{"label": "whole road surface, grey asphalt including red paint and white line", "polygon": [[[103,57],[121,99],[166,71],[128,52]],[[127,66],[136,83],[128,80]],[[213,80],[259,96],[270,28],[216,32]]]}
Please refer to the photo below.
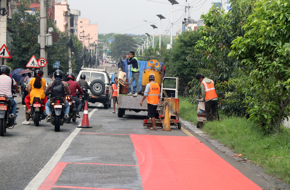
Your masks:
{"label": "whole road surface, grey asphalt including red paint and white line", "polygon": [[55,132],[45,120],[22,125],[17,106],[18,124],[0,137],[0,189],[288,189],[190,129],[148,131],[146,112],[119,118],[112,107],[90,104],[92,128],[77,128],[77,119]]}

